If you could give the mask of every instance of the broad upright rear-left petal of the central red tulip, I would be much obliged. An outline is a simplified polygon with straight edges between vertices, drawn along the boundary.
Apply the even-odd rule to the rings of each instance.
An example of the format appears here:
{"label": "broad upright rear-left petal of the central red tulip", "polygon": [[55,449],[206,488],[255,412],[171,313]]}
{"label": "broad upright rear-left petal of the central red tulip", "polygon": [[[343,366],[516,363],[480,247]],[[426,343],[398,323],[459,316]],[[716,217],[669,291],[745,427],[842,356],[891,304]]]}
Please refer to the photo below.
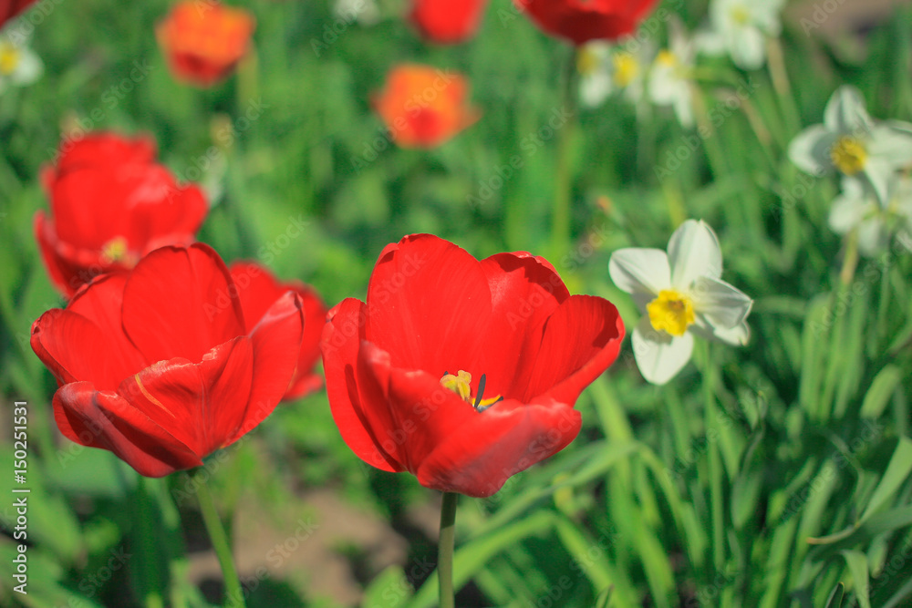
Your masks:
{"label": "broad upright rear-left petal of the central red tulip", "polygon": [[366,339],[394,366],[431,376],[474,369],[488,345],[491,292],[482,265],[430,234],[389,245],[368,284]]}

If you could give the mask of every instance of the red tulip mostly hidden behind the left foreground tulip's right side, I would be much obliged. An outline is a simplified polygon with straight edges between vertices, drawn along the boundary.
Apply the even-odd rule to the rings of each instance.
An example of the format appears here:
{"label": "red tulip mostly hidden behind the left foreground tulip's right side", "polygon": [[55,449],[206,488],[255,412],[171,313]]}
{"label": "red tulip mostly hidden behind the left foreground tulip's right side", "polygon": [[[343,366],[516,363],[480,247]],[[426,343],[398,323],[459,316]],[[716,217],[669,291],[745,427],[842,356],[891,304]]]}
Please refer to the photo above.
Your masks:
{"label": "red tulip mostly hidden behind the left foreground tulip's right side", "polygon": [[320,335],[326,323],[326,306],[313,287],[300,281],[279,283],[268,270],[254,262],[236,262],[229,270],[238,288],[245,319],[253,321],[261,318],[285,292],[293,291],[301,298],[305,318],[304,338],[295,376],[283,398],[290,401],[304,397],[323,386],[323,376],[314,373],[314,366],[320,357]]}

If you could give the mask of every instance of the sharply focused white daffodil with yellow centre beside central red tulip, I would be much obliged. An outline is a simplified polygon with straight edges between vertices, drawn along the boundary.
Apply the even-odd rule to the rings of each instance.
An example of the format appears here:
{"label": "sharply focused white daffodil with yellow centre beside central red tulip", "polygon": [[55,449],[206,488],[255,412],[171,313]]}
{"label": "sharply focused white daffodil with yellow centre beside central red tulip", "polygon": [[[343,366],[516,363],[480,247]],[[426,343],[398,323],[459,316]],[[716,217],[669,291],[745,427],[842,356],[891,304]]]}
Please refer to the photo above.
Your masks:
{"label": "sharply focused white daffodil with yellow centre beside central red tulip", "polygon": [[629,248],[612,253],[611,280],[645,314],[633,330],[633,354],[648,382],[664,385],[690,360],[693,336],[747,344],[745,319],[753,301],[721,280],[716,233],[688,220],[668,241],[668,252]]}

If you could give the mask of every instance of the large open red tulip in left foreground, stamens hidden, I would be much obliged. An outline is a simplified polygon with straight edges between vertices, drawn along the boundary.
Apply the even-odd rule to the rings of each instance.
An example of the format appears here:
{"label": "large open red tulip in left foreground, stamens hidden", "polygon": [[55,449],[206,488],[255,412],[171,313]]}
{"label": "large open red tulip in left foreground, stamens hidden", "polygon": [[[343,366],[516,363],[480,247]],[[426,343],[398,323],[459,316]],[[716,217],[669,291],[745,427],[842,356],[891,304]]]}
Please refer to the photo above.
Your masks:
{"label": "large open red tulip in left foreground, stamens hidden", "polygon": [[295,373],[301,299],[245,319],[228,268],[202,243],[163,247],[97,277],[32,325],[57,377],[57,428],[141,475],[202,465],[275,408]]}

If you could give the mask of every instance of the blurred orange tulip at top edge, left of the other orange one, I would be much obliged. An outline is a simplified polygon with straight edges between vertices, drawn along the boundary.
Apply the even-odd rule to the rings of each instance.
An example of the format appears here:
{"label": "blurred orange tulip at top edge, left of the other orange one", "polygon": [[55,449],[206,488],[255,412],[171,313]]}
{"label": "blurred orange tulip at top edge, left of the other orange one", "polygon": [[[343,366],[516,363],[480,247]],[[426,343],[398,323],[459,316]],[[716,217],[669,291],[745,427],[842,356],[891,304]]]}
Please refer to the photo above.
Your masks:
{"label": "blurred orange tulip at top edge, left of the other orange one", "polygon": [[246,55],[254,16],[216,0],[185,0],[156,26],[171,73],[182,82],[212,87]]}

